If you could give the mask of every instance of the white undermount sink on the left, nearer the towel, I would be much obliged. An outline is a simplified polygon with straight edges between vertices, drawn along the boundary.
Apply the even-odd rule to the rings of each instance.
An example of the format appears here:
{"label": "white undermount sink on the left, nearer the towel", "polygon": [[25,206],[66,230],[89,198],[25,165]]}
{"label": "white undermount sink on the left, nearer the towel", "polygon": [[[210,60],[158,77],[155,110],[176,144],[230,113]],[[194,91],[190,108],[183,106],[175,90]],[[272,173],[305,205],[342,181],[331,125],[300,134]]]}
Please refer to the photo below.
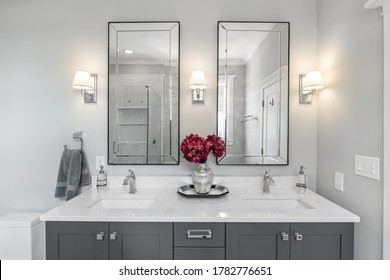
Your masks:
{"label": "white undermount sink on the left, nearer the towel", "polygon": [[153,196],[102,197],[87,206],[90,209],[148,209],[156,201]]}

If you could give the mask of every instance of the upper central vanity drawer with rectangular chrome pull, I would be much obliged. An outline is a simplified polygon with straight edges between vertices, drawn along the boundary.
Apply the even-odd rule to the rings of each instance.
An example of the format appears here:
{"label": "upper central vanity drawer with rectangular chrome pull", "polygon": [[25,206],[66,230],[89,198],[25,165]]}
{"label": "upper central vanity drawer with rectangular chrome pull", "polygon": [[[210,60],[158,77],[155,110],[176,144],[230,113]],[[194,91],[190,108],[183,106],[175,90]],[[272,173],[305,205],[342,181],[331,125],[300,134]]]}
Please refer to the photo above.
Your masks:
{"label": "upper central vanity drawer with rectangular chrome pull", "polygon": [[225,223],[175,223],[174,246],[225,247]]}

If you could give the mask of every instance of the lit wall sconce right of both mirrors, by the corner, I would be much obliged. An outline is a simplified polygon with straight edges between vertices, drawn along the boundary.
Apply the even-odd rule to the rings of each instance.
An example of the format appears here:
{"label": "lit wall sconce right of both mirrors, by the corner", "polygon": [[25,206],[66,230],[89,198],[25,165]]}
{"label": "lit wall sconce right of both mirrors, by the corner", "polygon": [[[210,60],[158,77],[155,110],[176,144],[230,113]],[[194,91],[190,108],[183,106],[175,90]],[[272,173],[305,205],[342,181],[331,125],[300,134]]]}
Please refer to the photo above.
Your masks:
{"label": "lit wall sconce right of both mirrors, by the corner", "polygon": [[299,75],[299,103],[311,103],[313,94],[324,88],[324,79],[320,71],[311,71]]}

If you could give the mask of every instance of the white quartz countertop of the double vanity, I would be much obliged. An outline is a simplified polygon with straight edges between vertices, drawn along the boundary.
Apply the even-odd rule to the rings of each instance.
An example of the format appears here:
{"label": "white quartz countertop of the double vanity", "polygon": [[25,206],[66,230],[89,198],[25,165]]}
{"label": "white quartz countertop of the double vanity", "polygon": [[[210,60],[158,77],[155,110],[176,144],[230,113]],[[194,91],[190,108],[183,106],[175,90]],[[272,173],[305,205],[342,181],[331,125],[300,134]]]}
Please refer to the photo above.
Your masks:
{"label": "white quartz countertop of the double vanity", "polygon": [[[105,222],[359,222],[360,218],[324,197],[307,190],[299,194],[296,177],[274,177],[270,194],[261,191],[261,177],[216,177],[215,184],[229,193],[218,198],[187,198],[179,195],[180,186],[190,177],[138,177],[137,193],[128,194],[123,177],[110,177],[109,188],[98,194],[95,188],[41,216],[42,221]],[[92,186],[94,186],[94,182]],[[111,200],[105,206],[101,200]],[[129,200],[131,200],[129,202]],[[272,202],[270,202],[272,201]],[[303,207],[278,206],[285,202]],[[119,203],[118,203],[119,202]],[[140,207],[126,208],[130,203]],[[143,205],[143,203],[148,205]],[[150,203],[149,203],[150,202]],[[139,209],[143,208],[143,209]]]}

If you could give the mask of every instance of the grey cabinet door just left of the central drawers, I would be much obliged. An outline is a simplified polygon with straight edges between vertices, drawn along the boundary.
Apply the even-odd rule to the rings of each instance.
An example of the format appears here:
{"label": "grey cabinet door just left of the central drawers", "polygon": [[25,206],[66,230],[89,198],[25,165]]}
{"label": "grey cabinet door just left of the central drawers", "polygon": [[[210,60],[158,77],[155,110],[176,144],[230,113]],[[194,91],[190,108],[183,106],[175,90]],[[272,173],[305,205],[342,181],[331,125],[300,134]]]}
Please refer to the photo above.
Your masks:
{"label": "grey cabinet door just left of the central drawers", "polygon": [[173,259],[172,223],[110,223],[110,259]]}

